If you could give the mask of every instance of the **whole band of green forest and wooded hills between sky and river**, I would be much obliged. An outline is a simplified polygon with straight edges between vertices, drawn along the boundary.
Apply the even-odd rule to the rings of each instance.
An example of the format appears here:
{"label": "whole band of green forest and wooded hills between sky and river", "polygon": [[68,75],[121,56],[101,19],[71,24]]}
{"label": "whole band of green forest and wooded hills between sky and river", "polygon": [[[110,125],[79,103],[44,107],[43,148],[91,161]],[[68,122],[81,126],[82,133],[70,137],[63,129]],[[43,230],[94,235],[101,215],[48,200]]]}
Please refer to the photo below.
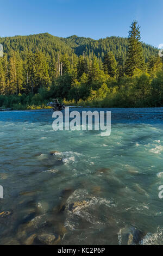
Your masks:
{"label": "whole band of green forest and wooded hills between sky and river", "polygon": [[40,34],[0,43],[2,108],[48,108],[53,98],[73,106],[163,106],[162,58],[140,42],[136,21],[128,39]]}

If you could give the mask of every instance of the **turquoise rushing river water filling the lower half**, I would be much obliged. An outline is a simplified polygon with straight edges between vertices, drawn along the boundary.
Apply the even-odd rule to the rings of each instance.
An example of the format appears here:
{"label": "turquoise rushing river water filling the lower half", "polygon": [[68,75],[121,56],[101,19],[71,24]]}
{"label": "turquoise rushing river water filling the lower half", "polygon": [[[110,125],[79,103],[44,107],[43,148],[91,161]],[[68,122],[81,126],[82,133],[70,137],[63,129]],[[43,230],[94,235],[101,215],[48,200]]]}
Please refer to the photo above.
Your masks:
{"label": "turquoise rushing river water filling the lower half", "polygon": [[120,245],[133,227],[163,244],[163,108],[96,110],[111,111],[109,137],[53,131],[49,110],[0,112],[1,244]]}

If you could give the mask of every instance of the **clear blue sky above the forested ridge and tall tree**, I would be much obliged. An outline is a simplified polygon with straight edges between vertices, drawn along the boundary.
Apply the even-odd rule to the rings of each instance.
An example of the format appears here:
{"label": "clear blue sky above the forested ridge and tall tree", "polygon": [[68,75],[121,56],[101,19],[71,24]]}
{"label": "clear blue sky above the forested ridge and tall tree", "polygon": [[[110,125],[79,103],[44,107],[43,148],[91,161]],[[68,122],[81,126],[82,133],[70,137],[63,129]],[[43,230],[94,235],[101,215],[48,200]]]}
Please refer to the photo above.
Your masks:
{"label": "clear blue sky above the forested ridge and tall tree", "polygon": [[0,0],[0,36],[48,32],[67,37],[127,36],[131,21],[141,26],[141,40],[163,44],[162,0]]}

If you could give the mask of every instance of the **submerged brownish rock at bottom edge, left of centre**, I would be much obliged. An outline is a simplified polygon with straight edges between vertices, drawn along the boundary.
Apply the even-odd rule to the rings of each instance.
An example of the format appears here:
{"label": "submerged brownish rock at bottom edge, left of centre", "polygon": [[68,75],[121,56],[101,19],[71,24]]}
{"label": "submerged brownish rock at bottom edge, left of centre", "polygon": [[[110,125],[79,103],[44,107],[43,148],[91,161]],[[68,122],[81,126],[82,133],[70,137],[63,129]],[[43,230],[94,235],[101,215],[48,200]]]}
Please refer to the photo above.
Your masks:
{"label": "submerged brownish rock at bottom edge, left of centre", "polygon": [[37,242],[40,242],[42,245],[57,245],[59,241],[59,235],[43,233],[37,236]]}

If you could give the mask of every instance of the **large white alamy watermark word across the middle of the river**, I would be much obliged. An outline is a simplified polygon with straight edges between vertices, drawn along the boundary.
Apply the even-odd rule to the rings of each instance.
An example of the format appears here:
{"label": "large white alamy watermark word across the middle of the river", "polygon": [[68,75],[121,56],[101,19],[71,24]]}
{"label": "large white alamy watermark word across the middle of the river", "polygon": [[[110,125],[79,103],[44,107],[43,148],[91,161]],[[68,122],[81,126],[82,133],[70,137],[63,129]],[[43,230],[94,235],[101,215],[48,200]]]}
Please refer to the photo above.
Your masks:
{"label": "large white alamy watermark word across the middle of the river", "polygon": [[[103,136],[110,136],[111,133],[111,112],[110,111],[71,111],[65,107],[62,111],[54,111],[52,127],[54,131],[106,131]],[[70,120],[71,119],[71,120]]]}

